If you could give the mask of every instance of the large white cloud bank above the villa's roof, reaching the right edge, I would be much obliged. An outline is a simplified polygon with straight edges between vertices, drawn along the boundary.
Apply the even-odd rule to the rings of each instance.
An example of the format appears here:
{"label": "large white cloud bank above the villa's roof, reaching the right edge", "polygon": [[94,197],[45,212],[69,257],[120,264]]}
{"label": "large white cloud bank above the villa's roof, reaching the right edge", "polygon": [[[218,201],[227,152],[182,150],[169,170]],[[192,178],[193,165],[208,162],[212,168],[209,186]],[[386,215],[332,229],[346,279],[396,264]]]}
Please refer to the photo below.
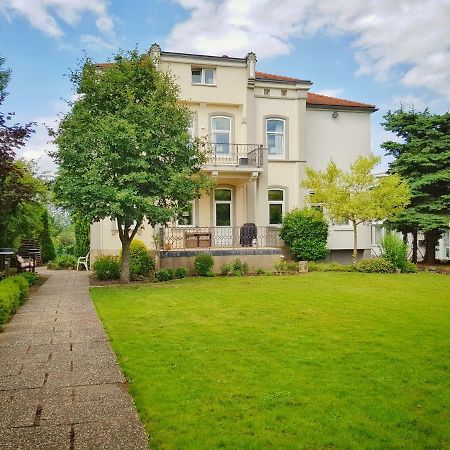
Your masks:
{"label": "large white cloud bank above the villa's roof, reaching the right edge", "polygon": [[292,39],[348,35],[358,75],[399,77],[450,99],[450,0],[176,0],[190,11],[172,29],[174,51],[260,57]]}

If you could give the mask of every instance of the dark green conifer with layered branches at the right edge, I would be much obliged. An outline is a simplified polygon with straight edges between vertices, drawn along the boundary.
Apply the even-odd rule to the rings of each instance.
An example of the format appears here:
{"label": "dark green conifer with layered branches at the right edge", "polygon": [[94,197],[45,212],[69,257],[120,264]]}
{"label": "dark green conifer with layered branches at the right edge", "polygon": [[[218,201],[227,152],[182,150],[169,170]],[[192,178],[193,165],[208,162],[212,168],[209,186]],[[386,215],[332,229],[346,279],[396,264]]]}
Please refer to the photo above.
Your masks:
{"label": "dark green conifer with layered branches at the right edge", "polygon": [[413,261],[417,261],[417,232],[425,234],[425,261],[435,262],[437,241],[450,223],[450,113],[427,109],[389,111],[383,126],[401,142],[382,144],[395,159],[390,171],[407,180],[411,203],[390,224],[413,234]]}

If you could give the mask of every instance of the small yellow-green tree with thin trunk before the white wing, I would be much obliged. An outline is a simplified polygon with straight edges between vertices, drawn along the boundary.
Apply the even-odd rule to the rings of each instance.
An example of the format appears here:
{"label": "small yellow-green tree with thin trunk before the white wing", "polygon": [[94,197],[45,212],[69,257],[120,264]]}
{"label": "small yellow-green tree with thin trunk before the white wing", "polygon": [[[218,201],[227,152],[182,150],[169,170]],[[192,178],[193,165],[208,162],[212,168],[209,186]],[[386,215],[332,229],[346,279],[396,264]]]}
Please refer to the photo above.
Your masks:
{"label": "small yellow-green tree with thin trunk before the white wing", "polygon": [[409,202],[408,186],[399,175],[372,174],[379,162],[379,157],[371,155],[360,156],[349,171],[339,169],[332,161],[325,171],[307,167],[307,178],[302,183],[312,191],[310,202],[322,204],[330,219],[352,223],[354,262],[358,254],[358,225],[395,216]]}

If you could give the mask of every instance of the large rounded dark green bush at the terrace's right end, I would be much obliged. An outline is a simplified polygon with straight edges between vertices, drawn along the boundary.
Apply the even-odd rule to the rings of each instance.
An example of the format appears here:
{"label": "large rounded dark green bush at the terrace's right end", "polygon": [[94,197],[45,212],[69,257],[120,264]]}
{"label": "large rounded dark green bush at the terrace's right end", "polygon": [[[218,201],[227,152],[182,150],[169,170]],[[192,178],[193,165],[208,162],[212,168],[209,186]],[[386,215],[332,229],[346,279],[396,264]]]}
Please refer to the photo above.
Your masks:
{"label": "large rounded dark green bush at the terrace's right end", "polygon": [[280,237],[297,260],[317,261],[328,254],[328,224],[316,209],[294,209],[287,213]]}

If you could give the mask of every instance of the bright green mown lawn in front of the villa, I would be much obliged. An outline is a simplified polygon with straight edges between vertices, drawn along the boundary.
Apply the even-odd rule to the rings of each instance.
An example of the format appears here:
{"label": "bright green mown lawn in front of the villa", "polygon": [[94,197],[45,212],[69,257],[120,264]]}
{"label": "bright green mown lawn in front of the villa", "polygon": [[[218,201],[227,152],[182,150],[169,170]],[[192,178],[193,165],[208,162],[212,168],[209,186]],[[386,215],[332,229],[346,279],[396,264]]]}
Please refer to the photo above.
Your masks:
{"label": "bright green mown lawn in front of the villa", "polygon": [[153,448],[450,448],[450,278],[91,290]]}

